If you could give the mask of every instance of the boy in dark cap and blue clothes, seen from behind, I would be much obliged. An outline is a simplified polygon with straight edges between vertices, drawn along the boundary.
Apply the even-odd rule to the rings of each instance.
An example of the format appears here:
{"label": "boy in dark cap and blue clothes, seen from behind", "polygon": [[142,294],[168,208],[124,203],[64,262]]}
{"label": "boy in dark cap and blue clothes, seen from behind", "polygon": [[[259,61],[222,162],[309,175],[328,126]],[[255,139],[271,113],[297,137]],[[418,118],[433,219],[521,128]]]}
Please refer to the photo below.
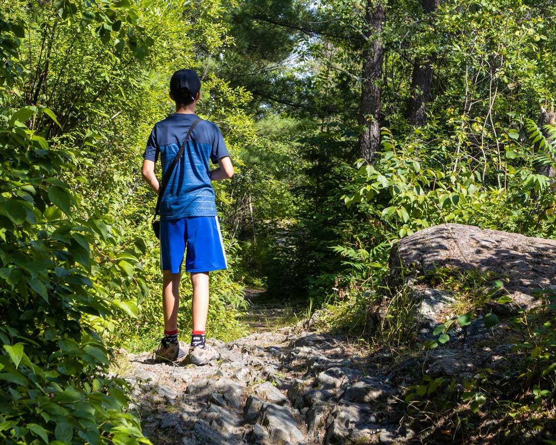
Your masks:
{"label": "boy in dark cap and blue clothes, seen from behind", "polygon": [[[155,175],[155,162],[160,156],[163,177],[189,128],[198,119],[195,106],[200,89],[201,80],[195,71],[173,73],[170,98],[176,102],[176,112],[156,123],[143,154],[142,175],[157,194],[161,185]],[[209,159],[214,164],[218,162],[219,167],[211,171]],[[219,358],[219,353],[205,343],[209,272],[227,267],[211,181],[233,174],[234,167],[219,128],[210,121],[197,122],[160,199],[164,337],[155,353],[157,362],[173,362],[185,355],[177,340],[177,312],[186,246],[185,270],[190,273],[193,286],[190,362],[201,365]]]}

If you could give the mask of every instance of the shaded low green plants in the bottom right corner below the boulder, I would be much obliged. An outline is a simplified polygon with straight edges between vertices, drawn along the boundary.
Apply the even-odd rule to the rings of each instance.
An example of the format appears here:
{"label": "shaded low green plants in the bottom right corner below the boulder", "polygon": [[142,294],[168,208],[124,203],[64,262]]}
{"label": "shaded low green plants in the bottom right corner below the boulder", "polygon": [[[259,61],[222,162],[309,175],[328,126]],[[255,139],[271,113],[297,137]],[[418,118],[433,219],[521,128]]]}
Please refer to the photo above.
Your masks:
{"label": "shaded low green plants in the bottom right corner below the boulder", "polygon": [[[487,368],[471,379],[454,378],[450,382],[445,377],[432,379],[425,375],[405,395],[410,415],[419,417],[419,412],[433,409],[439,430],[463,423],[465,428],[458,433],[462,439],[469,438],[476,425],[484,425],[489,419],[499,419],[490,432],[497,440],[521,441],[533,431],[539,439],[551,437],[550,419],[556,394],[556,305],[553,293],[539,296],[542,304],[537,308],[529,313],[521,310],[516,317],[505,320],[509,327],[505,337],[512,349],[504,359],[513,369],[500,373]],[[502,301],[507,303],[507,299]],[[484,318],[487,329],[498,323],[497,317],[491,316],[490,320],[487,317]],[[458,318],[457,323],[468,324],[468,315]],[[434,334],[446,328],[446,324],[440,325]]]}

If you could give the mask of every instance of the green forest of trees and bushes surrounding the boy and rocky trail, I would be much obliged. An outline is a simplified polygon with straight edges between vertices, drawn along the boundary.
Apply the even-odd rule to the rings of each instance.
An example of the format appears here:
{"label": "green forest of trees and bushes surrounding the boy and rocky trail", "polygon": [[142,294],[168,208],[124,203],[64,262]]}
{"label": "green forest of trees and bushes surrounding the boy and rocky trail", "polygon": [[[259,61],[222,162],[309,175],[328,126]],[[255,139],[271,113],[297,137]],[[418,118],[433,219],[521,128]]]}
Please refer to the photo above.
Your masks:
{"label": "green forest of trees and bushes surrounding the boy and rocky trail", "polygon": [[[422,342],[408,294],[389,293],[396,241],[448,223],[556,239],[551,0],[2,0],[1,443],[151,443],[118,351],[160,340],[141,155],[180,68],[236,170],[213,182],[228,268],[211,273],[207,337],[246,335],[245,290],[261,289],[392,360],[426,354],[449,327]],[[441,273],[480,295],[462,317],[504,285]],[[415,443],[556,444],[555,297],[509,323],[507,380],[422,375],[400,395],[417,429],[454,432]]]}

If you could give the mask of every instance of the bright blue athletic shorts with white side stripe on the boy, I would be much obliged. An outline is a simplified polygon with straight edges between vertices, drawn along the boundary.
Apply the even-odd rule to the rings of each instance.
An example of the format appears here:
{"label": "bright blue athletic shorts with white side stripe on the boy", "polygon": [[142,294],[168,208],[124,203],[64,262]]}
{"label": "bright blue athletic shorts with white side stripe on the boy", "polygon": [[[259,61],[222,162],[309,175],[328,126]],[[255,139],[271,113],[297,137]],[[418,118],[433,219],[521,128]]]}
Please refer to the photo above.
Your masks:
{"label": "bright blue athletic shorts with white side stripe on the boy", "polygon": [[217,216],[188,216],[160,221],[160,265],[181,272],[183,253],[187,272],[226,269],[226,253]]}

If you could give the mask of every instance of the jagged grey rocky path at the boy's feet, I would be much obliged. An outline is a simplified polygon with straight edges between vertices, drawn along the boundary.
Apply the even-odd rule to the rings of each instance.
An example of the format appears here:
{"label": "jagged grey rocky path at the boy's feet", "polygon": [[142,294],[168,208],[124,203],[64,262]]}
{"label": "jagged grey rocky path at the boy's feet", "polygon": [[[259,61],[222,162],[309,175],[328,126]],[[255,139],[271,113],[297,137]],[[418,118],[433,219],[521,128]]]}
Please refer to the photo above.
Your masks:
{"label": "jagged grey rocky path at the boy's feet", "polygon": [[195,367],[128,356],[135,407],[156,444],[394,443],[411,436],[390,412],[388,358],[312,323],[215,342],[221,359]]}

